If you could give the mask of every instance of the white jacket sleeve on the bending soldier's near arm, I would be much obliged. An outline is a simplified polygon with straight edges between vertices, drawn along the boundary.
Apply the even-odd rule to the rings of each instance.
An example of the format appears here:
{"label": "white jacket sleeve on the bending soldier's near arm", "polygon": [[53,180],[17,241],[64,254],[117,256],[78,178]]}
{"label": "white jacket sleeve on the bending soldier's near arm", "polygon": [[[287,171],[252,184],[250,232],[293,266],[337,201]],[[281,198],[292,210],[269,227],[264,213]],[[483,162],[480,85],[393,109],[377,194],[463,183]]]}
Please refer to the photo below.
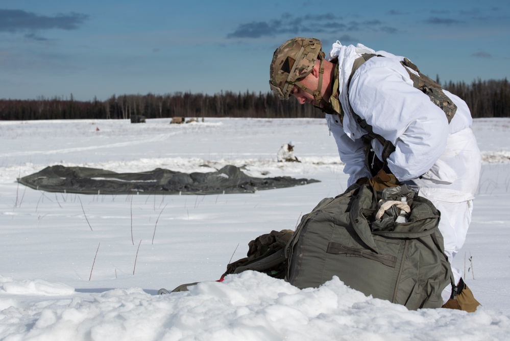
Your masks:
{"label": "white jacket sleeve on the bending soldier's near arm", "polygon": [[[387,161],[399,180],[426,173],[444,152],[449,134],[445,113],[412,85],[397,59],[372,58],[361,65],[349,99],[354,112],[396,147]],[[381,145],[373,144],[380,156]]]}

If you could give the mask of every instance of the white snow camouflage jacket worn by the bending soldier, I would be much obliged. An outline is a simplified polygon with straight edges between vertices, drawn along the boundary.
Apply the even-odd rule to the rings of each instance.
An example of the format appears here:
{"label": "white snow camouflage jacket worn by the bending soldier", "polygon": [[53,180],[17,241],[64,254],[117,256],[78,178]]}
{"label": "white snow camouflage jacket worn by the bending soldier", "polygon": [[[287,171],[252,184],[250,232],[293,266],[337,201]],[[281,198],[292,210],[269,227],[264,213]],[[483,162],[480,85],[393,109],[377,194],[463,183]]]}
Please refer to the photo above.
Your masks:
{"label": "white snow camouflage jacket worn by the bending soldier", "polygon": [[[354,60],[363,53],[384,57],[374,57],[363,63],[354,73],[347,91]],[[362,44],[342,46],[337,41],[326,56],[327,60],[334,58],[338,58],[339,101],[345,115],[343,125],[336,115],[326,115],[326,120],[340,158],[346,164],[344,172],[350,175],[348,185],[371,175],[365,166],[360,139],[367,132],[356,124],[347,96],[352,110],[365,119],[375,133],[396,147],[387,162],[397,179],[421,193],[426,191],[443,200],[446,197],[446,201],[473,199],[478,185],[480,154],[466,103],[445,91],[457,105],[455,116],[448,124],[443,110],[413,86],[400,63],[403,57],[376,52]],[[382,145],[373,140],[372,146],[380,158]]]}

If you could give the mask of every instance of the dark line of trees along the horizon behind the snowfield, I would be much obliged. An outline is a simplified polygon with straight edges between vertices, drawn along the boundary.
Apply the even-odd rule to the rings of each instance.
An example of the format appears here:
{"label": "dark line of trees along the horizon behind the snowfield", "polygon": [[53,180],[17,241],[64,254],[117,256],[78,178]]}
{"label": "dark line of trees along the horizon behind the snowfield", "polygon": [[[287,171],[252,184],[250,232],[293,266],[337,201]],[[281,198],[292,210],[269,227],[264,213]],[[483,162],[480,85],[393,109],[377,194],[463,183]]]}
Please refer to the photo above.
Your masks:
{"label": "dark line of trees along the horizon behind the snowfield", "polygon": [[[473,118],[510,117],[508,80],[447,82],[446,90],[464,99]],[[171,117],[314,118],[320,112],[273,93],[221,92],[214,95],[177,92],[166,95],[113,95],[106,101],[76,101],[42,96],[35,100],[0,100],[0,120],[147,119]]]}

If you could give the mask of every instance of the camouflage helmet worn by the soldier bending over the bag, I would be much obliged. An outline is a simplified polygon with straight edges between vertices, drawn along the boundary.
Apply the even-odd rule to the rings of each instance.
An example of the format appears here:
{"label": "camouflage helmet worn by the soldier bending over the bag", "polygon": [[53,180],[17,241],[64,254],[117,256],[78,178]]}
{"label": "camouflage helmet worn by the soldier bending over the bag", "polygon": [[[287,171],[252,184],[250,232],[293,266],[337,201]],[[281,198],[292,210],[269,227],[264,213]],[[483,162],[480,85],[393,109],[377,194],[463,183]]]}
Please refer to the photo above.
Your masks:
{"label": "camouflage helmet worn by the soldier bending over the bag", "polygon": [[317,59],[324,58],[322,44],[316,38],[296,37],[276,49],[270,66],[269,85],[280,99],[288,99],[297,80],[306,77]]}

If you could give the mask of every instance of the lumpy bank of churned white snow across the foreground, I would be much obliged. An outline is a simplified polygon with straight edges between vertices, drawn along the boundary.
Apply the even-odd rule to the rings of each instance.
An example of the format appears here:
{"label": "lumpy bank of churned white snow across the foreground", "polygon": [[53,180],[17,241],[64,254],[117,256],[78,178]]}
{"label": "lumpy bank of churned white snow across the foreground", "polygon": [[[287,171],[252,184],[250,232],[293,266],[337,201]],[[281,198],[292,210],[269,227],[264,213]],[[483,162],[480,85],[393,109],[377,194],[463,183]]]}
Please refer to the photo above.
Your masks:
{"label": "lumpy bank of churned white snow across the foreground", "polygon": [[[333,278],[300,290],[245,271],[161,296],[114,289],[4,310],[0,337],[72,340],[504,339],[508,317],[479,309],[408,311]],[[142,317],[143,316],[143,317]]]}

